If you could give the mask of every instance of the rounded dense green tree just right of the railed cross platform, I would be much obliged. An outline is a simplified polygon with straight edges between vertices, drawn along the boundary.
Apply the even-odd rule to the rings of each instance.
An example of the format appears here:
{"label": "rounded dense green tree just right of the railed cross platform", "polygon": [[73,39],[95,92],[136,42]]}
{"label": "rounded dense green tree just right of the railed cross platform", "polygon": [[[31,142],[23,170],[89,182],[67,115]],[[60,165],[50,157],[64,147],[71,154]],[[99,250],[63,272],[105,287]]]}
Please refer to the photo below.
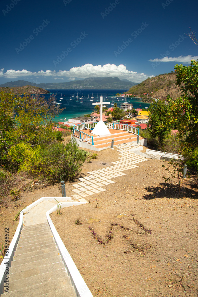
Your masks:
{"label": "rounded dense green tree just right of the railed cross platform", "polygon": [[162,145],[163,140],[171,130],[171,126],[167,123],[168,109],[169,106],[166,102],[160,99],[151,103],[148,108],[149,121],[147,123],[147,127],[149,128],[149,135],[152,138],[158,137],[160,145]]}

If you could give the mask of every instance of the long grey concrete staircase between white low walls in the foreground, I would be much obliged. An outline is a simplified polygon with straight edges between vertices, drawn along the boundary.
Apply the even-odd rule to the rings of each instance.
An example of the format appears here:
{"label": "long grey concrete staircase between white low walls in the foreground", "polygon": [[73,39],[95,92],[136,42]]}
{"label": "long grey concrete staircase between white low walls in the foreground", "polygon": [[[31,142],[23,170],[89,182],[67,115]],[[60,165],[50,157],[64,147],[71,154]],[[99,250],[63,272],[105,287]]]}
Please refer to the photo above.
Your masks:
{"label": "long grey concrete staircase between white low walls in the foreground", "polygon": [[5,297],[76,297],[48,223],[21,231]]}

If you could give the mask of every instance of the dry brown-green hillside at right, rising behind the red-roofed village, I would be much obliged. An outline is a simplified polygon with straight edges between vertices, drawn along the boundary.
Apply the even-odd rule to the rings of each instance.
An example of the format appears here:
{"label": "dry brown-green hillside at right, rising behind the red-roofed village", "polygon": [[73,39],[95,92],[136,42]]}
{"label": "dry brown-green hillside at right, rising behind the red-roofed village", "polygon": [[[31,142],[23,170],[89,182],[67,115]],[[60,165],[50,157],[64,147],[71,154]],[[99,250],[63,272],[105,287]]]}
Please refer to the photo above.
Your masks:
{"label": "dry brown-green hillside at right, rising behind the red-roofed village", "polygon": [[145,97],[143,93],[149,94],[149,97],[157,99],[167,99],[167,95],[170,95],[173,99],[180,97],[180,87],[176,86],[176,72],[147,78],[139,85],[133,86],[126,92],[126,94],[133,94],[137,97]]}

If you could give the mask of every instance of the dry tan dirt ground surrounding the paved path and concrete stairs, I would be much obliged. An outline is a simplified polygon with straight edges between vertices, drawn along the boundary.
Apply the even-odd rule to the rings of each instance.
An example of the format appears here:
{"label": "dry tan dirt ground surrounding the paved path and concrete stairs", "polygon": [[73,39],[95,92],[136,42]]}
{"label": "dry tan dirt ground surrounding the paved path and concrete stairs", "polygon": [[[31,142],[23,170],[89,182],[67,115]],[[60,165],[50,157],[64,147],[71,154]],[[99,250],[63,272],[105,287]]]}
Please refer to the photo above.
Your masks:
{"label": "dry tan dirt ground surrounding the paved path and concrete stairs", "polygon": [[[116,149],[98,152],[98,159],[83,165],[81,176],[111,166],[118,154]],[[165,161],[138,163],[138,168],[124,171],[125,176],[113,178],[115,183],[104,186],[105,192],[85,197],[90,204],[51,215],[94,297],[198,295],[197,178],[183,181],[182,198],[178,198],[177,185],[162,179],[166,173],[162,164],[166,168]],[[72,189],[66,183],[70,197]],[[20,207],[42,196],[60,197],[58,185],[24,193]],[[6,227],[12,239],[18,209],[10,200],[7,208],[1,207],[2,242]],[[75,224],[77,219],[82,225]]]}

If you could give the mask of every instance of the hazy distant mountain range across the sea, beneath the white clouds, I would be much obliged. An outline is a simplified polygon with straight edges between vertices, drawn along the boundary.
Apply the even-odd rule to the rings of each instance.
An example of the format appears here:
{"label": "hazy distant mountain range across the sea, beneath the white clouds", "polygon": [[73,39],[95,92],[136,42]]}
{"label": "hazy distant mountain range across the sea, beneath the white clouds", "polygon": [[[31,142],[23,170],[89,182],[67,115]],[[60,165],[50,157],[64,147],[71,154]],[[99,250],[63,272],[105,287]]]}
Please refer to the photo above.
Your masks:
{"label": "hazy distant mountain range across the sea, beneath the white clouds", "polygon": [[73,80],[65,83],[31,83],[27,80],[10,81],[0,87],[36,86],[42,89],[130,89],[137,85],[127,79],[120,80],[117,77],[95,77],[83,80]]}

